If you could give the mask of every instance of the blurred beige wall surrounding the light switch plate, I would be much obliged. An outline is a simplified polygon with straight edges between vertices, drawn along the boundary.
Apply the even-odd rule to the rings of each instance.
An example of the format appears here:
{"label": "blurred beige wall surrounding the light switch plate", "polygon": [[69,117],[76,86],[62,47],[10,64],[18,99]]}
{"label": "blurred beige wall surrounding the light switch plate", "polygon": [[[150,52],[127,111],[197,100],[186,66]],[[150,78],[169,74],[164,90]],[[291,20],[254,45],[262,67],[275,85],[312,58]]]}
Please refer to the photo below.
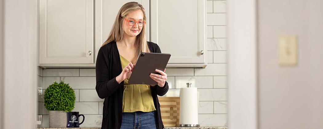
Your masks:
{"label": "blurred beige wall surrounding the light switch plate", "polygon": [[[258,0],[259,128],[323,123],[323,1]],[[278,65],[279,35],[298,36],[298,64]]]}

